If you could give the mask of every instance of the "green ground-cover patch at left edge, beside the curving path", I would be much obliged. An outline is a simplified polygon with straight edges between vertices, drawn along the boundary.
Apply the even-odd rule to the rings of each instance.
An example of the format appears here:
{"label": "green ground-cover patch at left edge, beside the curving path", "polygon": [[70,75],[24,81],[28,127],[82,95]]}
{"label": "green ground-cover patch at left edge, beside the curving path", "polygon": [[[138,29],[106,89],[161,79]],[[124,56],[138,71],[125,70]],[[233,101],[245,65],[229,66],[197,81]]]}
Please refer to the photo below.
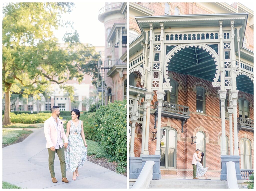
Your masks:
{"label": "green ground-cover patch at left edge, beside the curving path", "polygon": [[33,131],[3,129],[3,147],[21,142]]}

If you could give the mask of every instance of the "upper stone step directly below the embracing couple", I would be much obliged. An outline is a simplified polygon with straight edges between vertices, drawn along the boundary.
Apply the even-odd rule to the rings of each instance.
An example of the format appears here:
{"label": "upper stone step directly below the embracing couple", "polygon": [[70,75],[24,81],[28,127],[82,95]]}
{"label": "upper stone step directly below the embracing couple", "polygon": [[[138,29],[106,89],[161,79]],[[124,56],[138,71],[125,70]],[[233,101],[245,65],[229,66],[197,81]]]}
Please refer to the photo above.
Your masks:
{"label": "upper stone step directly below the embracing couple", "polygon": [[166,185],[227,185],[227,181],[220,180],[205,180],[205,179],[160,179],[160,180],[152,180],[151,184],[166,184]]}

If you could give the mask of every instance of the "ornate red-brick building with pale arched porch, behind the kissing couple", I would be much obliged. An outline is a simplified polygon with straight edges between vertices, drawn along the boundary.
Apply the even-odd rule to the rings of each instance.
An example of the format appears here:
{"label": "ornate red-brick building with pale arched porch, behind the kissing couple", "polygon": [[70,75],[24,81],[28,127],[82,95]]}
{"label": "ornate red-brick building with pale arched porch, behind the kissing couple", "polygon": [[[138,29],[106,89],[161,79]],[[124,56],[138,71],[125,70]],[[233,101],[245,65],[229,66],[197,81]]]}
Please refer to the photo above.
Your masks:
{"label": "ornate red-brick building with pale arched porch, behind the kissing couple", "polygon": [[[233,13],[237,15],[232,15]],[[242,29],[236,27],[240,21],[232,20],[236,19],[239,13],[246,13],[244,18],[247,18],[242,26],[243,34]],[[209,17],[209,21],[206,21],[208,24],[197,23],[198,20],[204,19],[202,14],[210,14],[206,15]],[[223,15],[216,18],[219,17],[217,14]],[[222,20],[229,19],[225,14],[230,14],[232,18],[228,22],[223,21],[226,24],[225,27],[223,25],[222,31],[218,29],[222,26]],[[170,17],[154,17],[161,15]],[[217,23],[215,29],[216,26],[209,24],[210,20],[214,19]],[[168,23],[171,21],[174,24]],[[190,22],[195,23],[190,25]],[[205,28],[200,25],[205,25]],[[232,25],[238,29],[234,30],[234,35],[231,35]],[[140,160],[144,160],[143,157],[159,155],[160,164],[155,161],[155,165],[159,165],[162,177],[192,177],[191,161],[196,149],[205,153],[203,165],[210,165],[208,177],[220,179],[222,155],[239,155],[241,177],[248,177],[248,172],[251,173],[254,166],[253,12],[239,3],[130,3],[129,26],[132,31],[130,37],[137,34],[137,37],[130,39],[130,178],[136,178],[140,174]],[[144,35],[141,35],[141,31],[144,31]],[[189,34],[189,31],[193,32]],[[229,37],[225,36],[229,35],[228,32],[236,41],[234,44],[231,37],[229,40]],[[239,35],[240,45],[237,43]],[[224,43],[224,48],[221,48],[221,42]],[[202,44],[207,44],[211,49]],[[153,48],[150,48],[152,46]],[[205,50],[205,53],[202,50]],[[227,56],[227,51],[230,51],[231,56]],[[194,52],[198,56],[194,59],[197,63],[190,64],[193,62],[191,58],[194,57]],[[212,58],[204,60],[202,55]],[[224,59],[219,59],[221,55]],[[215,60],[216,68],[214,62],[213,65],[209,64],[211,60]],[[232,70],[227,63],[233,64]],[[224,67],[217,68],[221,64]],[[225,73],[223,78],[220,71]],[[164,77],[161,78],[161,75]],[[230,82],[236,80],[232,81],[232,87],[226,83],[228,77]],[[171,92],[167,87],[172,88]],[[234,94],[237,94],[237,98]],[[220,97],[222,95],[225,97]],[[222,116],[221,102],[222,108],[225,107],[225,114]],[[237,103],[236,107],[233,102]],[[160,107],[158,103],[161,103]],[[158,114],[158,109],[161,109],[161,115]],[[236,109],[236,112],[233,111],[236,116],[231,120],[230,126],[228,111],[231,112],[232,109]],[[150,115],[147,114],[149,112]],[[234,124],[236,119],[238,125]],[[161,121],[160,125],[158,121]],[[225,126],[222,123],[225,123]],[[237,135],[234,129],[238,132]],[[222,132],[225,132],[226,136],[224,144]],[[160,147],[157,147],[157,137],[160,138]],[[221,149],[223,145],[226,145],[226,151]],[[247,169],[247,174],[244,169]]]}

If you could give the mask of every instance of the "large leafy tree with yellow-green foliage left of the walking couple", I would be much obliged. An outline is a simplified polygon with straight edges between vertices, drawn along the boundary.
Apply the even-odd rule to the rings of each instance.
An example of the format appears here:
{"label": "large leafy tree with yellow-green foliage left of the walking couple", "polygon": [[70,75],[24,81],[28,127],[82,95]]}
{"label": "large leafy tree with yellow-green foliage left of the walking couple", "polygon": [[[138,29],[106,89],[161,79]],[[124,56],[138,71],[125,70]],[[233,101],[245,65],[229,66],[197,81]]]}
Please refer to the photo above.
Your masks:
{"label": "large leafy tree with yellow-green foliage left of the walking couple", "polygon": [[[3,7],[3,92],[5,115],[10,121],[10,94],[18,93],[40,99],[50,83],[65,84],[76,77],[82,81],[89,74],[95,81],[99,54],[90,44],[79,42],[77,31],[67,33],[65,47],[59,47],[52,28],[69,23],[61,14],[71,12],[73,3],[8,3]],[[63,85],[72,99],[73,90]]]}

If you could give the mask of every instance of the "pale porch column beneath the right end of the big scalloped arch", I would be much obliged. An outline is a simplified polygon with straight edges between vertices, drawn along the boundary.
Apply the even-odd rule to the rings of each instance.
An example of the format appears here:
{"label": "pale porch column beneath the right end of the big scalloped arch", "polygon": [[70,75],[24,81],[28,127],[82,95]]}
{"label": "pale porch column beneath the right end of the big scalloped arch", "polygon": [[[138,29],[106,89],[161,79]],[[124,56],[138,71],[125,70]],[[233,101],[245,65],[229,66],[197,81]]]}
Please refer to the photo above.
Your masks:
{"label": "pale porch column beneath the right end of the big scalloped arch", "polygon": [[221,103],[221,141],[222,141],[222,151],[221,155],[227,155],[226,153],[226,130],[225,130],[225,99],[226,99],[226,94],[227,91],[224,90],[219,90],[218,91],[220,95],[220,103]]}

